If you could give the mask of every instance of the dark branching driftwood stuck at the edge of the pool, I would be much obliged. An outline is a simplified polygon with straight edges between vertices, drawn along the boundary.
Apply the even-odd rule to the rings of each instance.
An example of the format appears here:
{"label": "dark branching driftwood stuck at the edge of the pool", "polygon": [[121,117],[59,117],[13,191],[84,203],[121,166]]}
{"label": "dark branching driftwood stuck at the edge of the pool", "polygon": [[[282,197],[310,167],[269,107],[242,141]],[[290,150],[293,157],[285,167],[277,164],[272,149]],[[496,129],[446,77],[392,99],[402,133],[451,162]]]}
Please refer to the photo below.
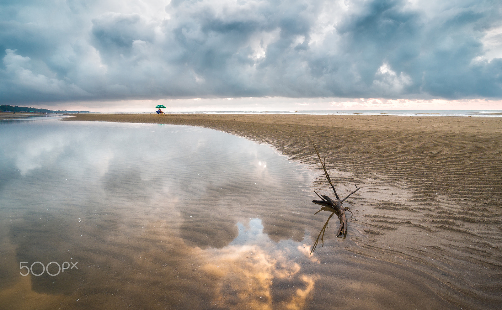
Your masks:
{"label": "dark branching driftwood stuck at the edge of the pool", "polygon": [[[326,160],[324,162],[321,160],[321,155],[319,154],[319,150],[317,149],[317,145],[315,145],[314,141],[312,141],[312,144],[314,145],[315,151],[317,153],[317,157],[319,158],[319,162],[321,162],[322,169],[324,170],[324,175],[326,176],[326,179],[328,180],[329,184],[331,185],[331,188],[333,189],[333,193],[335,193],[336,201],[333,199],[329,198],[329,196],[326,195],[319,195],[316,191],[314,193],[322,200],[312,200],[313,203],[318,204],[323,206],[321,210],[317,211],[314,214],[317,214],[321,211],[329,211],[331,212],[331,215],[328,217],[328,220],[324,224],[323,228],[321,229],[321,232],[319,233],[319,236],[317,236],[317,240],[314,243],[314,246],[312,247],[311,254],[314,252],[314,249],[317,247],[317,243],[319,242],[319,237],[321,237],[323,246],[324,246],[324,233],[326,231],[326,228],[328,227],[328,222],[331,219],[331,217],[337,213],[338,218],[340,219],[340,227],[338,228],[338,231],[336,232],[336,236],[339,236],[340,234],[345,235],[347,233],[347,217],[345,215],[345,208],[343,207],[343,202],[350,197],[350,195],[354,194],[357,192],[360,187],[357,187],[357,185],[354,184],[355,190],[352,191],[352,193],[348,194],[345,198],[340,199],[338,197],[338,194],[336,193],[335,186],[333,185],[333,182],[331,182],[331,178],[329,177],[329,170],[326,169]],[[349,211],[350,212],[350,211]]]}

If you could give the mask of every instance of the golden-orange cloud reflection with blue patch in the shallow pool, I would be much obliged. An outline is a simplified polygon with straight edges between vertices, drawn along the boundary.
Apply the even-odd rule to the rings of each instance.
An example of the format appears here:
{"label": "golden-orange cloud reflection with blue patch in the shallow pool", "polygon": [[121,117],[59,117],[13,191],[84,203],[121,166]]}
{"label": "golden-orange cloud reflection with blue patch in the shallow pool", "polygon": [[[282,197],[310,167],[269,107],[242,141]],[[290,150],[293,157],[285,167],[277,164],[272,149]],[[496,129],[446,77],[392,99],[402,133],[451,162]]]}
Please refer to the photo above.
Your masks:
{"label": "golden-orange cloud reflection with blue patch in the shallow pool", "polygon": [[221,276],[215,302],[251,309],[303,308],[316,277],[299,273],[300,244],[274,242],[263,233],[259,218],[251,219],[247,228],[237,226],[237,238],[211,250],[211,263],[204,266]]}

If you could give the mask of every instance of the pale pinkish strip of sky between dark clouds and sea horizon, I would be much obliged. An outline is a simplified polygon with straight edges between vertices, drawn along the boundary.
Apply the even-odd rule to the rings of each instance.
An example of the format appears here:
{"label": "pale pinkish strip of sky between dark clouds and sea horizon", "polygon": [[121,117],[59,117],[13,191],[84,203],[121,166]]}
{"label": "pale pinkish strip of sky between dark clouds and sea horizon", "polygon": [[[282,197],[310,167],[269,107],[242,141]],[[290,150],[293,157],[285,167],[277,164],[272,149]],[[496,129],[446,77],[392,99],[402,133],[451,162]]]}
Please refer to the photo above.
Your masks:
{"label": "pale pinkish strip of sky between dark clouds and sea horizon", "polygon": [[502,100],[490,99],[384,99],[384,98],[218,98],[66,102],[37,107],[100,113],[152,112],[156,105],[169,112],[280,111],[280,110],[502,110]]}

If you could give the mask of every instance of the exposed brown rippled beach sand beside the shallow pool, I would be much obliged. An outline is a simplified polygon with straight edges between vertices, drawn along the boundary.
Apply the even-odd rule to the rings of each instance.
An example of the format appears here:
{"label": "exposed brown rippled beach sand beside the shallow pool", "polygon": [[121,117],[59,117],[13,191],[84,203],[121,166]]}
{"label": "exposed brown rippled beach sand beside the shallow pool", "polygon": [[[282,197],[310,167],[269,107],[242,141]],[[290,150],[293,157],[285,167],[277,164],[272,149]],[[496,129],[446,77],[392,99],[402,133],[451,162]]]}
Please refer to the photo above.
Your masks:
{"label": "exposed brown rippled beach sand beside the shallow pool", "polygon": [[[350,237],[354,245],[345,250],[353,260],[366,257],[374,269],[401,266],[407,276],[426,278],[424,286],[451,308],[502,303],[502,118],[72,116],[67,119],[201,126],[268,143],[318,171],[313,190],[332,196],[312,146],[315,141],[341,196],[354,184],[361,187],[348,200],[354,212],[348,229],[356,233]],[[350,262],[350,255],[341,259]]]}

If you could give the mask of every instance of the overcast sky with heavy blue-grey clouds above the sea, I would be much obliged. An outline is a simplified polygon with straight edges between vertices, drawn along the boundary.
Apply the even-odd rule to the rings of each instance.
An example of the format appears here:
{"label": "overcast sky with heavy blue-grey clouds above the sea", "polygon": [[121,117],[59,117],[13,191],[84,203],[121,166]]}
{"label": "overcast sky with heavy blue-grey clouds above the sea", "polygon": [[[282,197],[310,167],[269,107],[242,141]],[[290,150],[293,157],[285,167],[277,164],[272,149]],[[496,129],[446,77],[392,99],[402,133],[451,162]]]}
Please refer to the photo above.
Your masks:
{"label": "overcast sky with heavy blue-grey clouds above the sea", "polygon": [[238,109],[256,101],[310,109],[323,102],[375,108],[380,100],[397,109],[404,102],[496,108],[502,5],[2,0],[0,57],[2,104]]}

